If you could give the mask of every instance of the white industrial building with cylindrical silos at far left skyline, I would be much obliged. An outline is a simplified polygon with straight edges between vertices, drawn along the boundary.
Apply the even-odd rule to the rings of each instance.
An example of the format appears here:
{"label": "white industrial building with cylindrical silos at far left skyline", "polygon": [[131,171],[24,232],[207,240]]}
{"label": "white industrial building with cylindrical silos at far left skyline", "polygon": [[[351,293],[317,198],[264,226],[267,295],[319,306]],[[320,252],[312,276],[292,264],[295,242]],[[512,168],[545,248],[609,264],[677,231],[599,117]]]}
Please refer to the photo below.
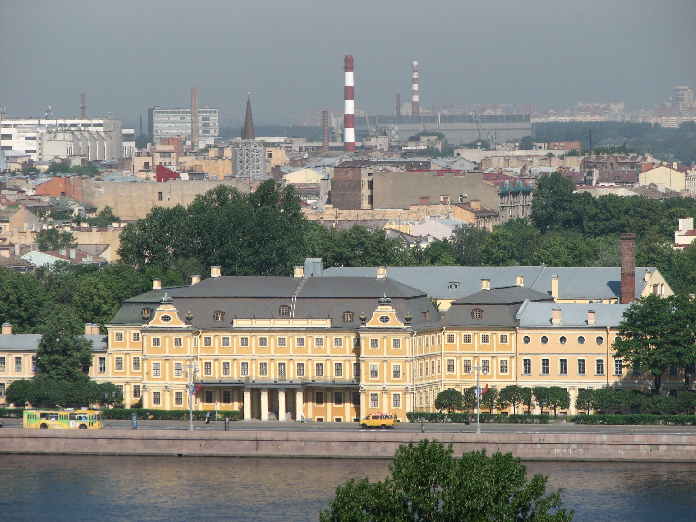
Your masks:
{"label": "white industrial building with cylindrical silos at far left skyline", "polygon": [[121,120],[113,118],[10,118],[0,121],[0,147],[29,154],[33,161],[81,156],[118,161]]}

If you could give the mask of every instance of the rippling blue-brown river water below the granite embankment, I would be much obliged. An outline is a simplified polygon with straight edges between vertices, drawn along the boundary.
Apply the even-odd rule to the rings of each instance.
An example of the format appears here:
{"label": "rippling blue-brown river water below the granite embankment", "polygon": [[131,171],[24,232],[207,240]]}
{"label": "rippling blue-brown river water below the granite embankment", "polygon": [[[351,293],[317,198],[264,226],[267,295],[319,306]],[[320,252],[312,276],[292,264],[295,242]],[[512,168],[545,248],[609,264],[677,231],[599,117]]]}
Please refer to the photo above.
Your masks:
{"label": "rippling blue-brown river water below the granite embankment", "polygon": [[[526,462],[577,522],[696,521],[696,466]],[[0,521],[317,521],[335,487],[388,461],[0,454]]]}

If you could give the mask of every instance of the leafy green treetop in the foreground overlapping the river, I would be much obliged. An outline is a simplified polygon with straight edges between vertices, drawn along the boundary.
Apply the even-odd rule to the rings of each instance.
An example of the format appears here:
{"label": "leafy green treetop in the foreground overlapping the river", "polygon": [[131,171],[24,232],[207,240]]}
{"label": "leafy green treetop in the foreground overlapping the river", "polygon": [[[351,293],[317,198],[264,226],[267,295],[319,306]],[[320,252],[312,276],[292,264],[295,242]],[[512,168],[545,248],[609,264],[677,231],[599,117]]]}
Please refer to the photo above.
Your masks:
{"label": "leafy green treetop in the foreground overlapping the river", "polygon": [[[384,482],[350,480],[336,489],[321,522],[570,521],[559,489],[546,496],[548,477],[526,477],[512,454],[485,450],[452,458],[452,445],[422,440],[402,445]],[[549,510],[555,511],[550,513]]]}

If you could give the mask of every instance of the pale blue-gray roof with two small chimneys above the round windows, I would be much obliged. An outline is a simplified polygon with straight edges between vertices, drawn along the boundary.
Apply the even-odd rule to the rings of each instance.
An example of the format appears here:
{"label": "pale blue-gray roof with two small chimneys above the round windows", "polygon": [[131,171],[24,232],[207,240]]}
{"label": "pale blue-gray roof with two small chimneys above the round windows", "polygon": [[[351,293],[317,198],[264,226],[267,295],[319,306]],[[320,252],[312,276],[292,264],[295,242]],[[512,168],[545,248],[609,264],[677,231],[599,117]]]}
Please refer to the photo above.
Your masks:
{"label": "pale blue-gray roof with two small chimneys above the round windows", "polygon": [[[607,303],[525,303],[519,310],[519,326],[567,328],[587,327],[587,310],[594,310],[594,326],[616,327],[622,321],[628,304]],[[561,322],[551,324],[551,310],[561,309]]]}

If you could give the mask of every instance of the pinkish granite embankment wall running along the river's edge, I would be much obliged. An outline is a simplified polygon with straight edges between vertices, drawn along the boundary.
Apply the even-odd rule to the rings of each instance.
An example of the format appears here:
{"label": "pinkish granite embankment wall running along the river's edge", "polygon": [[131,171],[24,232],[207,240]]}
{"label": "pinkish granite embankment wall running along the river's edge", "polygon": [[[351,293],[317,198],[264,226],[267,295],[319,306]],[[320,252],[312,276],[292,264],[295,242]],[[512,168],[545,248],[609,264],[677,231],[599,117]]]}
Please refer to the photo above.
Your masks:
{"label": "pinkish granite embankment wall running along the river's edge", "polygon": [[696,435],[637,434],[469,434],[397,431],[187,432],[159,429],[0,429],[1,453],[128,454],[209,457],[393,457],[400,444],[436,438],[454,453],[486,448],[527,460],[612,460],[696,462]]}

